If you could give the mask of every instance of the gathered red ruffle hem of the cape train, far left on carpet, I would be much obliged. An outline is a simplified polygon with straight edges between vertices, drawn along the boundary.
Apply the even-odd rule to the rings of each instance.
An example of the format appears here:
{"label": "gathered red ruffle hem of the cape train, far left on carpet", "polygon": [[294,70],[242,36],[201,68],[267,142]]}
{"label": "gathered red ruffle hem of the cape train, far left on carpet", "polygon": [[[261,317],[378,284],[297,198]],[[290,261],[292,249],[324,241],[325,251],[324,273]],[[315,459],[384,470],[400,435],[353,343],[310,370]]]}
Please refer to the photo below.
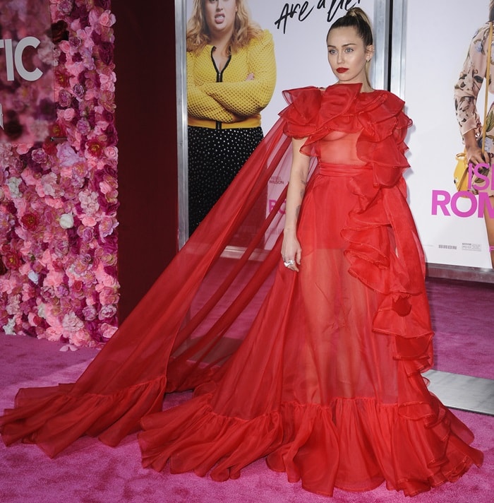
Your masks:
{"label": "gathered red ruffle hem of the cape train, far left on carpet", "polygon": [[159,377],[112,395],[78,395],[73,384],[20,389],[15,408],[0,416],[1,438],[6,446],[37,444],[50,458],[83,435],[116,446],[139,430],[143,415],[161,410],[165,384]]}

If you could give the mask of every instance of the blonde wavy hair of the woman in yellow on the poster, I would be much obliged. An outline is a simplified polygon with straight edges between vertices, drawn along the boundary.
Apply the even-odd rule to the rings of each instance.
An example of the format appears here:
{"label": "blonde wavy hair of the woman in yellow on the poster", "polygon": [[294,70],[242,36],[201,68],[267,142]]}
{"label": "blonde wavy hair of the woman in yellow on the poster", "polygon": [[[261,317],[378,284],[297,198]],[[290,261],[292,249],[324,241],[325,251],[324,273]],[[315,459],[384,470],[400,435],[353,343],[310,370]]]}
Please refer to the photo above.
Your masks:
{"label": "blonde wavy hair of the woman in yellow on the poster", "polygon": [[[203,49],[211,42],[209,28],[205,21],[204,4],[207,0],[193,0],[191,17],[187,22],[187,52]],[[234,32],[231,35],[230,50],[236,52],[260,37],[263,30],[251,20],[246,0],[236,0]]]}

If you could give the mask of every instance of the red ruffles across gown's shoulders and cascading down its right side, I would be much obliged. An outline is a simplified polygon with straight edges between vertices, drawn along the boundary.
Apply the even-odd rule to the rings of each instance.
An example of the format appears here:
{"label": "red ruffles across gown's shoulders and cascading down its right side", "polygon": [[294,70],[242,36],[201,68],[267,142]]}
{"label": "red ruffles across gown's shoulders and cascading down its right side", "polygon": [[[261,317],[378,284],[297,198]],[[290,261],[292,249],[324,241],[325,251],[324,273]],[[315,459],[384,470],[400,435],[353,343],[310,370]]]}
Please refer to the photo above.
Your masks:
{"label": "red ruffles across gown's shoulders and cascading down its right side", "polygon": [[348,225],[342,230],[349,243],[345,250],[349,272],[383,295],[374,331],[415,339],[406,343],[398,339],[395,357],[406,362],[409,374],[423,372],[432,365],[433,332],[423,251],[402,178],[409,166],[404,138],[411,119],[403,112],[404,102],[392,93],[360,91],[361,84],[336,84],[325,91],[285,91],[290,105],[281,113],[287,121],[284,131],[289,136],[307,137],[306,153],[330,131],[361,131],[357,155],[372,170],[359,170],[351,179],[359,205],[350,212]]}

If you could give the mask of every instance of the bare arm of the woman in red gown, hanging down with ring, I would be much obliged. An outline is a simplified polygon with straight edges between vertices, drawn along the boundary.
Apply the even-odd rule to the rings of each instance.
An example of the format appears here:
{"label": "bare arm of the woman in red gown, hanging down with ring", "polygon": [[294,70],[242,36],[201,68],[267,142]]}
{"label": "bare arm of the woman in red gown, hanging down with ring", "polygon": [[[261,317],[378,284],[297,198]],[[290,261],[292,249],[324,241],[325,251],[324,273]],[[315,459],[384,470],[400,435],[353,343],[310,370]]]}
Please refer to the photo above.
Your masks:
{"label": "bare arm of the woman in red gown, hanging down with ring", "polygon": [[287,204],[285,208],[285,223],[283,230],[282,257],[283,260],[294,260],[290,266],[293,271],[299,271],[301,263],[301,246],[296,237],[296,225],[299,220],[299,213],[303,195],[306,192],[308,168],[311,158],[301,153],[300,149],[306,142],[306,138],[291,141],[293,150],[293,160],[291,161],[290,181],[287,191]]}

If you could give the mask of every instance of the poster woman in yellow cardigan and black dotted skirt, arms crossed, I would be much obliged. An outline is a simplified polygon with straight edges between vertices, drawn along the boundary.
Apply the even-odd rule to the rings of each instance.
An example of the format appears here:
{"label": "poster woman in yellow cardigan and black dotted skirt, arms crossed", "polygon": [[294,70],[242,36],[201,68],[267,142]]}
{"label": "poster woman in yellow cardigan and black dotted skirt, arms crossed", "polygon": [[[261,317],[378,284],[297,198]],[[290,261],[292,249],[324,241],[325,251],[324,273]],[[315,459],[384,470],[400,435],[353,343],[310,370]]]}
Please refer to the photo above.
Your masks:
{"label": "poster woman in yellow cardigan and black dotted skirt, arms crossed", "polygon": [[246,0],[193,0],[187,25],[189,232],[263,139],[276,83],[272,35]]}

